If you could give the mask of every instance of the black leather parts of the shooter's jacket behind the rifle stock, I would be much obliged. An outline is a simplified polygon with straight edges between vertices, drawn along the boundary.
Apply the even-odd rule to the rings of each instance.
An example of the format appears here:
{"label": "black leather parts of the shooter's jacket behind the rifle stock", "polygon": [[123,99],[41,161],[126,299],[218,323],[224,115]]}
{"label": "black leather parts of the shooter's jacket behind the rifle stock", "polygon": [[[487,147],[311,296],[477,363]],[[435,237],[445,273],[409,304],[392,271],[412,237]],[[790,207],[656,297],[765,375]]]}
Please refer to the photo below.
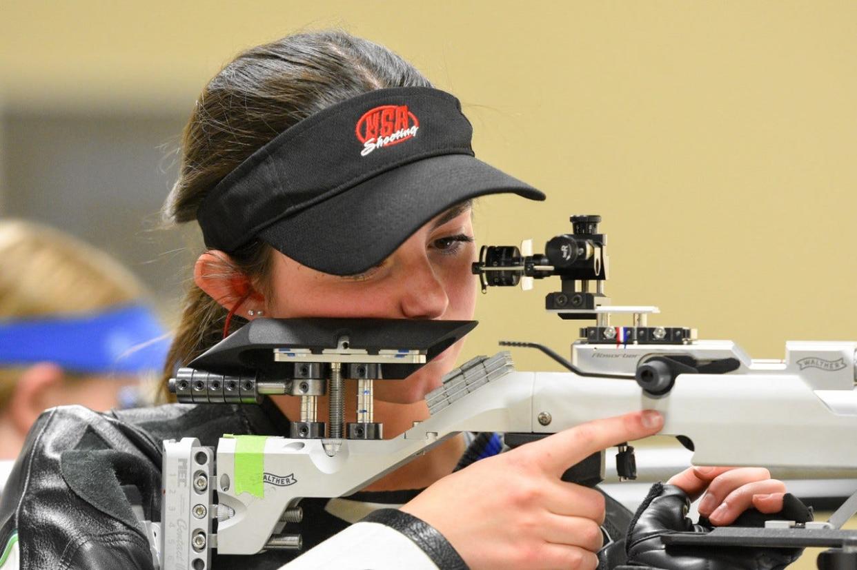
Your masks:
{"label": "black leather parts of the shooter's jacket behind the rifle stock", "polygon": [[[27,570],[151,570],[152,553],[140,515],[143,520],[160,519],[161,442],[190,436],[216,447],[225,433],[277,436],[288,433],[288,421],[270,401],[262,406],[171,404],[110,413],[80,406],[46,411],[27,436],[0,496],[0,546],[17,532],[21,568]],[[400,504],[418,492],[390,491],[388,501],[382,492],[366,493],[368,498],[362,500]],[[350,498],[361,500],[360,495]],[[303,523],[285,530],[300,532],[305,549],[348,525],[325,511],[326,502],[304,499]],[[609,497],[607,504],[604,529],[614,542],[602,550],[599,570],[624,561],[632,518]],[[427,540],[434,541],[431,549],[452,549],[436,531]],[[284,550],[215,554],[212,566],[267,570],[296,555]],[[455,567],[461,567],[460,559]]]}

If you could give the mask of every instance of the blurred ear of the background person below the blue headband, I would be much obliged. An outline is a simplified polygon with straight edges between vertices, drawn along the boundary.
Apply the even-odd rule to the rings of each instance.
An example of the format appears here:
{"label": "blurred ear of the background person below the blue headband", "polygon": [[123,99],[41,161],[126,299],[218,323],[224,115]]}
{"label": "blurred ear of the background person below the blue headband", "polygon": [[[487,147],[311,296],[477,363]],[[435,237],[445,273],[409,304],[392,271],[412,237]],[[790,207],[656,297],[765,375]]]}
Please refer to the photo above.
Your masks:
{"label": "blurred ear of the background person below the blue headband", "polygon": [[18,379],[9,401],[9,419],[21,437],[39,418],[45,408],[56,405],[56,392],[62,388],[63,369],[50,362],[32,365]]}

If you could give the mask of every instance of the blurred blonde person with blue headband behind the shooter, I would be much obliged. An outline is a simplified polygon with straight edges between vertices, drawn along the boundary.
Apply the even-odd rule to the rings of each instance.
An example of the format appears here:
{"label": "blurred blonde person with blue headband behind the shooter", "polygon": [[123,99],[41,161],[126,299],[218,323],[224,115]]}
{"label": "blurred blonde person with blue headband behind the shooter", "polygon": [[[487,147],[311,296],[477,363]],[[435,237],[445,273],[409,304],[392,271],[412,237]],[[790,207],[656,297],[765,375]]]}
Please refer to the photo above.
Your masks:
{"label": "blurred blonde person with blue headband behind the shooter", "polygon": [[145,379],[163,368],[169,341],[145,299],[105,252],[0,220],[0,490],[46,408],[152,403]]}

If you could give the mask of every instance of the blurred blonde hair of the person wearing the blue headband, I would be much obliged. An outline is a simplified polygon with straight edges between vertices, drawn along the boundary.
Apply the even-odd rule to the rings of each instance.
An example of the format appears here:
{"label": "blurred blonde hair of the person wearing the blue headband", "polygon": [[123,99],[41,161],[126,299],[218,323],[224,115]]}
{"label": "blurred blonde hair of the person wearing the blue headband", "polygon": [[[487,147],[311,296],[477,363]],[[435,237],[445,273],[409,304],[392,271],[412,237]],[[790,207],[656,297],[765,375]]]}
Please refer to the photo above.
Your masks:
{"label": "blurred blonde hair of the person wearing the blue headband", "polygon": [[[0,260],[0,320],[93,312],[145,294],[107,253],[39,223],[0,220]],[[0,409],[22,371],[0,368]]]}

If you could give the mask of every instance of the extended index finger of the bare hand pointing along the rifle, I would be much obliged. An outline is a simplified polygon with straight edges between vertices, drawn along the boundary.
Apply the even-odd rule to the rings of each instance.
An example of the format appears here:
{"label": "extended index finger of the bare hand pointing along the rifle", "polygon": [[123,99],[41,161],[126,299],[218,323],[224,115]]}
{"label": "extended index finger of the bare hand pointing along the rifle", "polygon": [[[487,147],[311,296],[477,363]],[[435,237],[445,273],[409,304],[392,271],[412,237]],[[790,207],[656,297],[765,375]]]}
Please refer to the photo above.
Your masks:
{"label": "extended index finger of the bare hand pointing along the rifle", "polygon": [[596,419],[532,442],[526,447],[533,460],[558,477],[570,466],[596,451],[602,451],[643,437],[653,436],[663,427],[663,416],[655,410],[626,413],[613,418]]}

